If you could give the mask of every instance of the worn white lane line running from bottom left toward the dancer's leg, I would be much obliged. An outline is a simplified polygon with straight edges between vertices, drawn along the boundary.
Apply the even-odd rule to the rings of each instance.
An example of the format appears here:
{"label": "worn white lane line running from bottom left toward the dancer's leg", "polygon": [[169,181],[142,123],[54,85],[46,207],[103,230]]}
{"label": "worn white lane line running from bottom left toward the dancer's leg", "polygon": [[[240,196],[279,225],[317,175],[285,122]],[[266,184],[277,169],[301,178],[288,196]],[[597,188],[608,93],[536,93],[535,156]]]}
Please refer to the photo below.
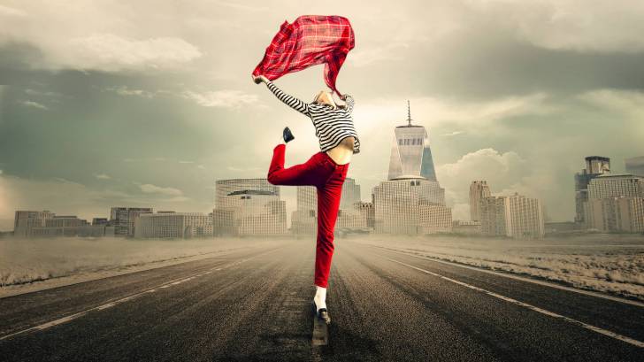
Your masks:
{"label": "worn white lane line running from bottom left toward the dancer's leg", "polygon": [[[275,250],[278,250],[278,249],[275,249]],[[182,277],[180,279],[174,279],[174,280],[168,281],[168,282],[166,282],[166,283],[164,283],[164,284],[162,284],[160,286],[150,288],[150,289],[145,289],[145,290],[143,290],[143,291],[141,291],[139,293],[135,293],[135,294],[133,294],[131,296],[122,297],[120,299],[111,301],[111,302],[106,303],[106,304],[101,304],[101,305],[98,305],[98,306],[93,307],[93,308],[86,309],[86,310],[81,311],[81,312],[73,313],[73,314],[70,314],[68,316],[59,318],[58,320],[51,320],[51,321],[49,321],[47,323],[42,323],[41,325],[38,325],[38,326],[35,326],[35,327],[29,327],[27,329],[23,329],[23,330],[20,330],[18,332],[14,332],[14,333],[9,334],[9,335],[2,335],[2,336],[0,336],[0,341],[2,341],[4,339],[7,339],[7,338],[11,338],[11,337],[13,337],[15,335],[22,335],[22,334],[25,334],[25,333],[31,332],[31,331],[42,330],[42,329],[47,329],[49,327],[58,326],[59,324],[63,324],[63,323],[66,323],[66,322],[68,322],[70,320],[75,320],[75,319],[77,319],[79,317],[82,317],[85,314],[87,314],[88,312],[103,311],[104,309],[111,308],[112,306],[114,306],[116,304],[121,304],[121,303],[124,303],[124,302],[126,302],[128,300],[132,300],[132,299],[134,299],[136,297],[141,297],[142,295],[147,294],[147,293],[152,293],[152,292],[156,291],[157,289],[165,289],[165,288],[172,287],[173,285],[180,284],[183,281],[189,281],[189,280],[191,280],[191,279],[193,279],[193,278],[195,278],[197,276],[212,273],[213,270],[222,270],[222,269],[226,269],[227,267],[230,267],[230,266],[237,266],[237,265],[240,265],[243,262],[248,261],[248,260],[250,260],[252,258],[257,258],[260,255],[265,255],[265,254],[271,253],[271,252],[273,252],[275,250],[271,250],[271,251],[267,251],[265,253],[257,254],[257,255],[255,255],[253,257],[250,257],[250,258],[241,259],[241,260],[236,261],[234,263],[226,264],[225,266],[216,266],[216,269],[213,267],[209,271],[196,273],[196,274],[193,274],[193,275],[189,276],[188,278]]]}

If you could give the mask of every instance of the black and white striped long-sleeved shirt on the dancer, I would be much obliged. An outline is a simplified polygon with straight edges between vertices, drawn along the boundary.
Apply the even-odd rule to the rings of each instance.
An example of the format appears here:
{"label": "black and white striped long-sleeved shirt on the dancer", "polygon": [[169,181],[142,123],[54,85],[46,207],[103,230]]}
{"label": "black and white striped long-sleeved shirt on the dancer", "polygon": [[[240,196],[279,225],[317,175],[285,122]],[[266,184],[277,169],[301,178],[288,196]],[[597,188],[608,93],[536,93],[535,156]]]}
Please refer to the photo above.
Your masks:
{"label": "black and white striped long-sleeved shirt on the dancer", "polygon": [[280,101],[288,104],[295,111],[301,112],[311,118],[313,127],[315,127],[315,135],[319,139],[320,150],[323,152],[331,150],[342,139],[352,135],[355,139],[353,142],[353,153],[360,152],[360,141],[357,138],[356,128],[353,127],[353,119],[351,118],[354,104],[352,96],[347,95],[347,108],[334,109],[327,104],[306,104],[295,96],[289,96],[284,93],[272,81],[266,82],[266,86],[268,86],[268,89],[271,89],[272,93]]}

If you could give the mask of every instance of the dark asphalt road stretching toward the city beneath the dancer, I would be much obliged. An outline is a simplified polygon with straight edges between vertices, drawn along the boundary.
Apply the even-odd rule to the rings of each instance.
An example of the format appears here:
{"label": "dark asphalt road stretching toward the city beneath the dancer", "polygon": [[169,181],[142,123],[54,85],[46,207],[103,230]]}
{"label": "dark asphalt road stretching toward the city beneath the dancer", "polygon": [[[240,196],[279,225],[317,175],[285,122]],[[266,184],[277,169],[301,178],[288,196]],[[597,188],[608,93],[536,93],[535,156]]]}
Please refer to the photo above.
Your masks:
{"label": "dark asphalt road stretching toward the city beneath the dancer", "polygon": [[644,307],[336,240],[328,345],[299,240],[0,299],[0,360],[644,360]]}

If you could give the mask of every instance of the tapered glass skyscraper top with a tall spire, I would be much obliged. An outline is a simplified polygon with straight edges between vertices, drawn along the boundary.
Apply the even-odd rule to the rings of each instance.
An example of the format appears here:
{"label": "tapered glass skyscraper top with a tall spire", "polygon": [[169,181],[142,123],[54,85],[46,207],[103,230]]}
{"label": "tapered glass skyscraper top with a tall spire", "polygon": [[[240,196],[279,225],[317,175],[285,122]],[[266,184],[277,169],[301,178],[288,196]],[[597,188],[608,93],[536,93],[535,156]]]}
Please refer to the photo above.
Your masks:
{"label": "tapered glass skyscraper top with a tall spire", "polygon": [[409,101],[407,124],[394,129],[387,179],[393,180],[399,176],[422,176],[437,181],[426,128],[411,124]]}

